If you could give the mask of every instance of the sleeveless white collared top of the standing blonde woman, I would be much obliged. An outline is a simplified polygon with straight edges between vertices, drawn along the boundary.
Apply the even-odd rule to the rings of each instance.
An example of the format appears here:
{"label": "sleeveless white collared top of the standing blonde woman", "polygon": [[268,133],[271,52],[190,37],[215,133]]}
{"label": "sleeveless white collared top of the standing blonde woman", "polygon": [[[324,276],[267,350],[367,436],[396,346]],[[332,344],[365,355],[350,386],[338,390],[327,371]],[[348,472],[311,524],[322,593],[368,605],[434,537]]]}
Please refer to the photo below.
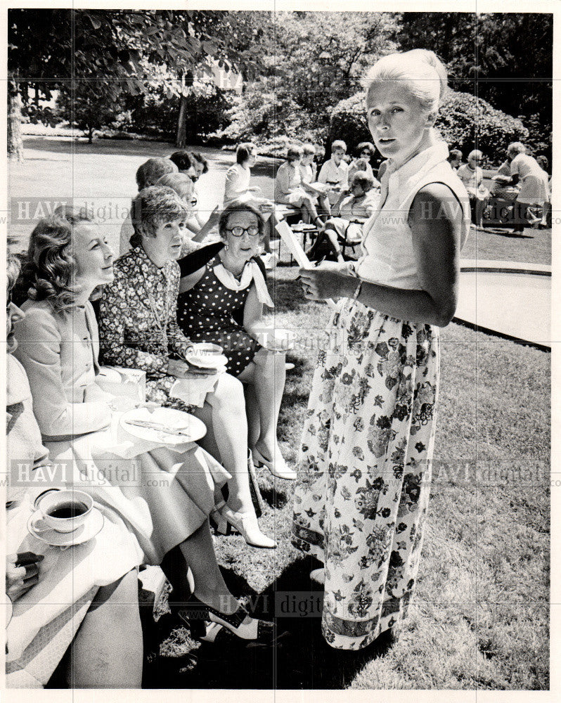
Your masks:
{"label": "sleeveless white collared top of the standing blonde woman", "polygon": [[454,203],[463,211],[460,241],[465,241],[470,230],[470,201],[447,158],[448,146],[439,141],[399,169],[393,170],[388,162],[382,176],[380,207],[363,226],[363,255],[354,266],[359,278],[394,288],[421,288],[407,219],[413,198],[429,183],[445,183],[458,198]]}

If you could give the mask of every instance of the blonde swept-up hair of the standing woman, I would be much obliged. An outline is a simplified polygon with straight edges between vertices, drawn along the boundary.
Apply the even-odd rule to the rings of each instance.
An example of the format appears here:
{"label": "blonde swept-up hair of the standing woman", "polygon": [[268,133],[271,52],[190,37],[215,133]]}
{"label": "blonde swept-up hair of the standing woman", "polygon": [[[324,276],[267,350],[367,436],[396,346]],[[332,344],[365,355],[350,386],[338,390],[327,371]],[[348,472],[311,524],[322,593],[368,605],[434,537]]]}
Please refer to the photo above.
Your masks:
{"label": "blonde swept-up hair of the standing woman", "polygon": [[434,51],[413,49],[403,53],[382,56],[368,70],[363,79],[366,99],[370,89],[385,81],[402,81],[407,84],[425,115],[434,115],[446,93],[448,76],[446,68]]}

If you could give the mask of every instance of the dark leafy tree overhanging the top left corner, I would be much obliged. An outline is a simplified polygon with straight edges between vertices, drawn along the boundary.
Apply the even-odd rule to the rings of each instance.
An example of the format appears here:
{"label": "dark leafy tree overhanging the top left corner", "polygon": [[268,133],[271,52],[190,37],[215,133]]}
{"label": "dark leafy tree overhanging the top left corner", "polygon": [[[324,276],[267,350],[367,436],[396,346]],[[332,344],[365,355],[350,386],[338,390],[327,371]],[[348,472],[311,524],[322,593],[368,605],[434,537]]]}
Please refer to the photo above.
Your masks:
{"label": "dark leafy tree overhanging the top left corner", "polygon": [[[224,23],[219,13],[212,15]],[[63,89],[72,99],[103,93],[118,104],[123,94],[141,93],[159,67],[172,78],[167,90],[183,101],[182,86],[192,84],[195,71],[209,73],[213,58],[248,58],[247,52],[231,49],[229,34],[213,36],[211,20],[194,11],[8,11],[8,154],[22,153],[18,107],[22,101],[27,109],[30,89],[47,99],[54,89]],[[248,70],[258,64],[255,56],[247,60]]]}

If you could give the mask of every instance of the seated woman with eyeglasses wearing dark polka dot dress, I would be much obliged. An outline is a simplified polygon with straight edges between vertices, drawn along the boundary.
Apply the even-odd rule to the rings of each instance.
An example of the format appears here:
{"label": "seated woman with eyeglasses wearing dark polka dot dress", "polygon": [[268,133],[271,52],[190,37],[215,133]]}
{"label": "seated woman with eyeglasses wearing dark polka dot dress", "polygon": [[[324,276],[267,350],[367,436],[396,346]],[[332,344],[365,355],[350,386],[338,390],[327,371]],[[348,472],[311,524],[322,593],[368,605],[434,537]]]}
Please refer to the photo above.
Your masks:
{"label": "seated woman with eyeglasses wearing dark polka dot dress", "polygon": [[[232,202],[219,220],[224,246],[205,247],[179,260],[177,318],[193,342],[214,342],[224,350],[228,373],[247,384],[249,446],[255,463],[273,476],[295,479],[280,454],[276,426],[285,385],[285,354],[257,341],[263,305],[273,307],[257,256],[264,221],[247,202]],[[273,344],[271,344],[271,347]]]}

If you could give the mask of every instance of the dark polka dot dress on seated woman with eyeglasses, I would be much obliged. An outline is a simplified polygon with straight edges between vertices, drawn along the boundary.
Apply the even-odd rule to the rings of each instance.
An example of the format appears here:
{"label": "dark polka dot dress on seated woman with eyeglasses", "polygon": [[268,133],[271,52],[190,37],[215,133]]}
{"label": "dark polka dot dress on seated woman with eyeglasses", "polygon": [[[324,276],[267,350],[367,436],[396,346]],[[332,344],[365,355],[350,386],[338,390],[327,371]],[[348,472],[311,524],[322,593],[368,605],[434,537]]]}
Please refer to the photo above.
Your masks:
{"label": "dark polka dot dress on seated woman with eyeglasses", "polygon": [[211,259],[198,283],[179,295],[177,321],[192,342],[219,344],[228,359],[228,373],[238,376],[261,347],[241,325],[250,286],[226,288],[214,275],[220,263],[219,257]]}

